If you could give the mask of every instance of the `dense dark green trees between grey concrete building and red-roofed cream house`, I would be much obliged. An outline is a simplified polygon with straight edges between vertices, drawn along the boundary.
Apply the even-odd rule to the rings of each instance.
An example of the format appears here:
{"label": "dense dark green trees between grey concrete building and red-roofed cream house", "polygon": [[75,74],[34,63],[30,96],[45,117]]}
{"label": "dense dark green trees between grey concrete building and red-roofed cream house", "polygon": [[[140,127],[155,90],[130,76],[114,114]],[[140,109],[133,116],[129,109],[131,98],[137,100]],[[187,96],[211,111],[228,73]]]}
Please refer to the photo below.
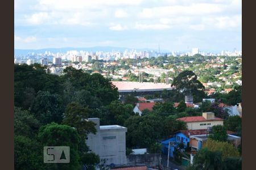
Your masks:
{"label": "dense dark green trees between grey concrete building and red-roofed cream house", "polygon": [[145,116],[131,116],[125,121],[128,147],[153,147],[160,138],[166,138],[178,130],[187,129],[185,122],[174,118],[148,113]]}

